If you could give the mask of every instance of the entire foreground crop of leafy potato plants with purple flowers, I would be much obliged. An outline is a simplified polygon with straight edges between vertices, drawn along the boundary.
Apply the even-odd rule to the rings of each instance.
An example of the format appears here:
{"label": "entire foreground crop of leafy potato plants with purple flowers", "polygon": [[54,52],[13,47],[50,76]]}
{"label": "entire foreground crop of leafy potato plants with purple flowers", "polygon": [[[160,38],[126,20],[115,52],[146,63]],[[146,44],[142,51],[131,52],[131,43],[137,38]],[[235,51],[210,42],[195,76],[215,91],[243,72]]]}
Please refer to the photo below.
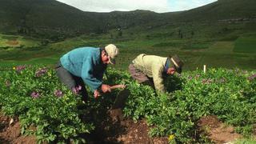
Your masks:
{"label": "entire foreground crop of leafy potato plants with purple flowers", "polygon": [[170,143],[210,142],[197,128],[198,121],[207,116],[234,126],[244,138],[255,132],[254,70],[219,68],[175,74],[166,78],[166,94],[156,94],[150,86],[138,84],[125,71],[110,69],[108,74],[104,82],[125,84],[126,90],[114,90],[98,99],[89,93],[88,102],[83,103],[81,97],[58,82],[49,66],[2,67],[1,110],[18,117],[22,134],[35,135],[38,142],[88,141],[97,122],[106,120],[104,113],[122,94],[128,94],[123,109],[126,118],[134,122],[145,119],[150,136],[166,137]]}

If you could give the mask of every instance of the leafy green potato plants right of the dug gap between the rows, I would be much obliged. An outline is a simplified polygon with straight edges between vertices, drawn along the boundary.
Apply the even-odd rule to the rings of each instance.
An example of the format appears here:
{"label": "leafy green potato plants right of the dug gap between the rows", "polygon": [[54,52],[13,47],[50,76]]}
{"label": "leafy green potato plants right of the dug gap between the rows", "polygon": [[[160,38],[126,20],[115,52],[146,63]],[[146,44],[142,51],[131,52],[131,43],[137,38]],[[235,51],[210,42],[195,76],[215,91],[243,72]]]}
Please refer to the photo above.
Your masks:
{"label": "leafy green potato plants right of the dug gap between the rows", "polygon": [[174,135],[177,142],[198,142],[199,118],[217,115],[222,122],[249,136],[256,122],[255,71],[211,69],[166,78],[170,94],[130,82],[124,110],[138,120],[146,118],[151,136]]}

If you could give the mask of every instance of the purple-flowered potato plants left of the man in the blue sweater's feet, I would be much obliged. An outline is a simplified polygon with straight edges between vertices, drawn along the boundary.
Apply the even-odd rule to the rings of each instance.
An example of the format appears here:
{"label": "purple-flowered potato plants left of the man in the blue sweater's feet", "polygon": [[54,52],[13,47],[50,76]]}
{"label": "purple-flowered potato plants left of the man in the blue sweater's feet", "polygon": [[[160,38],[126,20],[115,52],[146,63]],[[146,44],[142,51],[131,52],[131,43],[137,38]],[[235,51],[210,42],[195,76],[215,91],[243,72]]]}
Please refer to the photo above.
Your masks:
{"label": "purple-flowered potato plants left of the man in the blue sweater's feet", "polygon": [[0,74],[2,111],[18,117],[22,134],[35,134],[38,142],[84,142],[78,134],[94,126],[82,122],[78,95],[58,82],[55,71],[39,66],[17,66]]}

